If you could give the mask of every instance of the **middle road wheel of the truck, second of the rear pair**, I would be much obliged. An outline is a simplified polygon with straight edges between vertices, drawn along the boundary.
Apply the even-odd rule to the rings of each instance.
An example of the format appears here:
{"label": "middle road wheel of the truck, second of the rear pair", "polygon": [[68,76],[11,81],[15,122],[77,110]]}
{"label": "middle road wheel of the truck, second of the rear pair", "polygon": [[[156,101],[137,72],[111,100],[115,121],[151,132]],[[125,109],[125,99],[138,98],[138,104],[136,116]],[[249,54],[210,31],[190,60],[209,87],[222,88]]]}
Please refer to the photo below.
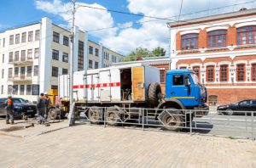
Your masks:
{"label": "middle road wheel of the truck, second of the rear pair", "polygon": [[120,119],[121,114],[119,113],[119,109],[114,107],[108,108],[108,126],[118,126]]}

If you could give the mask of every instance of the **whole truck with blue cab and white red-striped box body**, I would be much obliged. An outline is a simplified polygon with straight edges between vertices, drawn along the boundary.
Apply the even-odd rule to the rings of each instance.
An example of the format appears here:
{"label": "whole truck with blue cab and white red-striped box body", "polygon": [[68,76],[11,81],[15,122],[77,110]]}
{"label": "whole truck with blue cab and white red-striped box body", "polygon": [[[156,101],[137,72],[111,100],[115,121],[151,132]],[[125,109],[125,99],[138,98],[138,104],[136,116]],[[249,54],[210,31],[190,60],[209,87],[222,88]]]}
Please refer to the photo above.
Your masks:
{"label": "whole truck with blue cab and white red-striped box body", "polygon": [[[166,71],[166,92],[161,92],[160,70],[148,64],[77,71],[73,77],[77,113],[84,111],[95,124],[107,116],[108,125],[115,126],[120,120],[140,118],[139,109],[147,109],[166,129],[177,131],[192,120],[194,111],[208,109],[207,89],[191,70]],[[67,83],[68,75],[59,77],[61,100],[68,98]]]}

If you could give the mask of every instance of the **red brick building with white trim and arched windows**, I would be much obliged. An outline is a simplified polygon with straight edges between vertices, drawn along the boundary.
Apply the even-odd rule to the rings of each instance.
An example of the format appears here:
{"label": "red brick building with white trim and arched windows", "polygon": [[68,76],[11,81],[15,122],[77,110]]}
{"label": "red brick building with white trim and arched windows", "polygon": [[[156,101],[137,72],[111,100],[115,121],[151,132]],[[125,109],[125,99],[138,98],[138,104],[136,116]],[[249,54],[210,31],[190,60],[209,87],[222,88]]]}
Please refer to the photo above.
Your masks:
{"label": "red brick building with white trim and arched windows", "polygon": [[195,70],[207,87],[209,101],[256,99],[256,9],[168,26],[171,44],[176,44],[171,47],[171,69]]}

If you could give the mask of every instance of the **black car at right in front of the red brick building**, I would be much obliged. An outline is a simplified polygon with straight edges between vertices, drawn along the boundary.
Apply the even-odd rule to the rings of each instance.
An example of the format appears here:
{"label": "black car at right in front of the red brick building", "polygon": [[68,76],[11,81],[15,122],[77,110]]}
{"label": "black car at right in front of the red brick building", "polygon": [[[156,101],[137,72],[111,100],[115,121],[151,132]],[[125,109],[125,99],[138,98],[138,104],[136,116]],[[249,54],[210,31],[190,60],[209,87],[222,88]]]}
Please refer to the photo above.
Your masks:
{"label": "black car at right in front of the red brick building", "polygon": [[[242,100],[233,104],[219,105],[217,111],[224,115],[245,115],[247,111],[254,111],[256,115],[256,99]],[[250,114],[251,113],[247,113],[247,115]]]}

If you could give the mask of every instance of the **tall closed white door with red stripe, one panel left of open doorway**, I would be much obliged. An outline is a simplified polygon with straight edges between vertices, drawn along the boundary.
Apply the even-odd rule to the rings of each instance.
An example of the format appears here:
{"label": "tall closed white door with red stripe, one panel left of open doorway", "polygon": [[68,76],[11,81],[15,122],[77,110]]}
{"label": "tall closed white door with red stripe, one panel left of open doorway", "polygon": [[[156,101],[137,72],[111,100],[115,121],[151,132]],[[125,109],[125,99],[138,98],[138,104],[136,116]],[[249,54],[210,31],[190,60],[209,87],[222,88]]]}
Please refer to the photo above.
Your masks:
{"label": "tall closed white door with red stripe, one panel left of open doorway", "polygon": [[99,84],[100,84],[100,99],[102,102],[111,101],[111,94],[110,94],[110,70],[100,71],[99,74]]}

